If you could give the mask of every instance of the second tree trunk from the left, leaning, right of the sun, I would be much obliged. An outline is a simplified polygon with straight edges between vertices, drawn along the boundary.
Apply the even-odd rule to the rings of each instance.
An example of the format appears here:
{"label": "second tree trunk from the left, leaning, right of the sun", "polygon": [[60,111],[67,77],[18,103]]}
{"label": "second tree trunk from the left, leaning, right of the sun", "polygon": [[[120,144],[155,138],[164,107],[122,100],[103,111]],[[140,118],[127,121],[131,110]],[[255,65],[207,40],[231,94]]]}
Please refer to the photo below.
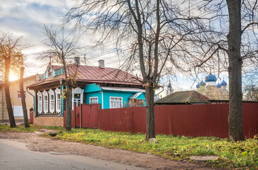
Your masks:
{"label": "second tree trunk from the left, leaning, right of the sun", "polygon": [[30,125],[28,124],[28,113],[27,113],[25,94],[23,89],[23,74],[24,74],[24,67],[21,67],[20,92],[21,92],[21,105],[23,106],[23,120],[24,120],[25,128],[30,128]]}

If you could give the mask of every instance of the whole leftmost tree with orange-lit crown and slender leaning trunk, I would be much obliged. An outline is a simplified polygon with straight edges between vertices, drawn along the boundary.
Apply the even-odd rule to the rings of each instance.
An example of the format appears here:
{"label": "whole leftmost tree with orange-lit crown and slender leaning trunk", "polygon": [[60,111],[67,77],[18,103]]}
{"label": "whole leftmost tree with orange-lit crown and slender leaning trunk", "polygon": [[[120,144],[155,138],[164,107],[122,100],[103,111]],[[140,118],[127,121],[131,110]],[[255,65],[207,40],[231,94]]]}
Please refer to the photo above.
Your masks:
{"label": "whole leftmost tree with orange-lit crown and slender leaning trunk", "polygon": [[11,128],[16,127],[16,123],[13,116],[13,108],[11,106],[9,74],[11,70],[18,74],[18,70],[22,66],[24,60],[23,55],[21,54],[21,50],[23,50],[24,47],[25,46],[21,45],[21,37],[13,38],[13,35],[9,33],[2,33],[0,38],[0,74],[4,76],[6,107]]}

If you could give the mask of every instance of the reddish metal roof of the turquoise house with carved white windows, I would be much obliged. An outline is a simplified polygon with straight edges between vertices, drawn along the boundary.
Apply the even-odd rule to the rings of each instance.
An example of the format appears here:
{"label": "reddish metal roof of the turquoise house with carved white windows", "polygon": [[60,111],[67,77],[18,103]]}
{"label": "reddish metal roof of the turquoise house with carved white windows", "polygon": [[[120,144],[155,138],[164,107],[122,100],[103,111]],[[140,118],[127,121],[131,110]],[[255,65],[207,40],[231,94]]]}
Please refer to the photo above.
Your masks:
{"label": "reddish metal roof of the turquoise house with carved white windows", "polygon": [[[69,64],[67,74],[74,74],[76,65]],[[60,69],[62,66],[52,65],[53,69]],[[52,81],[59,81],[64,79],[64,74],[51,77],[49,79],[42,79],[40,81],[31,84],[28,87],[47,84]],[[128,84],[128,85],[142,85],[133,74],[124,72],[120,69],[114,68],[100,68],[93,66],[79,65],[77,68],[77,81],[91,82],[91,83],[108,83],[108,84]]]}

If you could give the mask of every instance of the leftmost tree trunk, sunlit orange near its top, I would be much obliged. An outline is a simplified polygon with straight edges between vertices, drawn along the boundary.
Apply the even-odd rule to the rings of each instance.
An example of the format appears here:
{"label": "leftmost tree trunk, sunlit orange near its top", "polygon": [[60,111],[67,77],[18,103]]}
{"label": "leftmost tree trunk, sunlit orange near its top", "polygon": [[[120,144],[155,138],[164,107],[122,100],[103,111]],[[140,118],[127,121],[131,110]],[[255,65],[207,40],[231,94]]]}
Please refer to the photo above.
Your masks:
{"label": "leftmost tree trunk, sunlit orange near its top", "polygon": [[11,106],[11,96],[10,96],[10,89],[9,89],[9,74],[11,69],[11,61],[10,59],[6,58],[5,62],[5,72],[4,72],[4,90],[6,93],[6,107],[9,115],[10,127],[16,127],[16,123],[13,116],[13,107]]}

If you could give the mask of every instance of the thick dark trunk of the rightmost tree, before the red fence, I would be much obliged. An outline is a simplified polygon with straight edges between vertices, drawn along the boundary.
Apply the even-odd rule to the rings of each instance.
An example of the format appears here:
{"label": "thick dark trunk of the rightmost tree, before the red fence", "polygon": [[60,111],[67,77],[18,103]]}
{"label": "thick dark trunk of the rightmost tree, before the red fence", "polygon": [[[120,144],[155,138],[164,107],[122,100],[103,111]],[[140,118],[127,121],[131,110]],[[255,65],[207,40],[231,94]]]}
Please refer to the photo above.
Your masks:
{"label": "thick dark trunk of the rightmost tree, before the red fence", "polygon": [[230,20],[228,33],[229,114],[228,140],[245,140],[242,125],[241,0],[227,0]]}

